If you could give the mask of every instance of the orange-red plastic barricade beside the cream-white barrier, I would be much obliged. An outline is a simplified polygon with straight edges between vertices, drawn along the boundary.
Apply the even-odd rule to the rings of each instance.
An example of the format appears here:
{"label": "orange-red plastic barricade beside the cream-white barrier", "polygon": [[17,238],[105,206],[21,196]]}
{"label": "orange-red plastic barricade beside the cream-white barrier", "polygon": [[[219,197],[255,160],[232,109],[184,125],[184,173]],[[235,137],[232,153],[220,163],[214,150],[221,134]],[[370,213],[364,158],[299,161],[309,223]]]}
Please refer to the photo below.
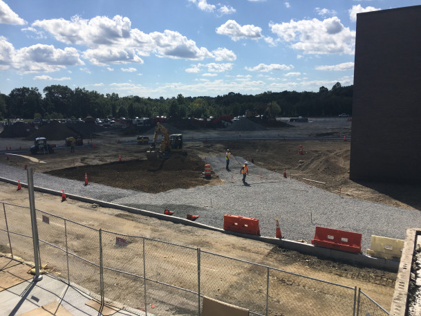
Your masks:
{"label": "orange-red plastic barricade beside the cream-white barrier", "polygon": [[345,230],[333,230],[331,228],[316,226],[313,245],[344,250],[346,252],[361,252],[362,234],[346,232]]}

